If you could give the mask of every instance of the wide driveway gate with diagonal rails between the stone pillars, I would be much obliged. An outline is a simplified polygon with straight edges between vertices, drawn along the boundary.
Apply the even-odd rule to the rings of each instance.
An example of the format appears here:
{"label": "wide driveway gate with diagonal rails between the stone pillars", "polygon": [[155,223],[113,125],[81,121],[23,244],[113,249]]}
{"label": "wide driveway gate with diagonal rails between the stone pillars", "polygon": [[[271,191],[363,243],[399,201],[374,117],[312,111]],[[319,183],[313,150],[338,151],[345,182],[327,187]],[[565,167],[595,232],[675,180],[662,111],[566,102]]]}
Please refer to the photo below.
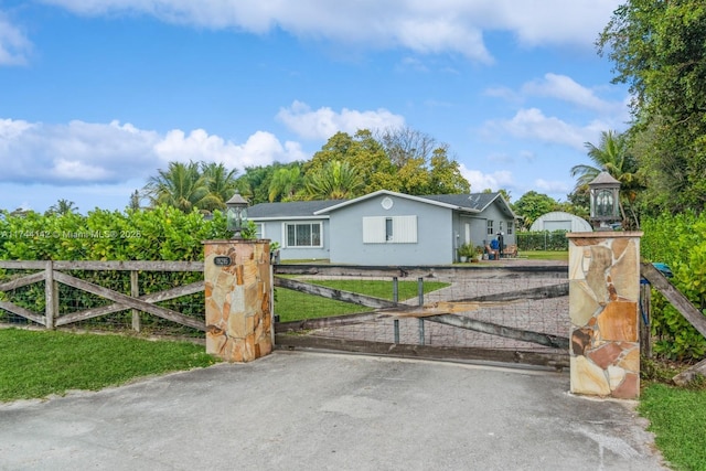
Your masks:
{"label": "wide driveway gate with diagonal rails between the stone pillars", "polygon": [[[307,300],[276,322],[278,347],[568,367],[566,266],[509,260],[453,267],[289,265],[275,271],[276,315],[292,309],[285,306],[291,303],[290,291]],[[389,296],[371,296],[372,281],[378,290],[388,286]],[[349,310],[328,315],[321,303],[329,302]]]}

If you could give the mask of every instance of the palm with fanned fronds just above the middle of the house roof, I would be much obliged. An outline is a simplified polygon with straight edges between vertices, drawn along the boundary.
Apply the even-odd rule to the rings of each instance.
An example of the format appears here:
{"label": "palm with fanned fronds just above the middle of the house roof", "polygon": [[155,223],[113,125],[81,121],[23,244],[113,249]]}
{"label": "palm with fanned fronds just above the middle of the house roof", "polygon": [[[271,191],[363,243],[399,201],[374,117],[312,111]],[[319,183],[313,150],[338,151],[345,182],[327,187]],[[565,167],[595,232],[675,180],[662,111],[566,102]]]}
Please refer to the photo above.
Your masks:
{"label": "palm with fanned fronds just above the middle of the house roof", "polygon": [[347,162],[332,160],[308,175],[306,189],[312,200],[343,200],[359,196],[364,184],[361,174]]}

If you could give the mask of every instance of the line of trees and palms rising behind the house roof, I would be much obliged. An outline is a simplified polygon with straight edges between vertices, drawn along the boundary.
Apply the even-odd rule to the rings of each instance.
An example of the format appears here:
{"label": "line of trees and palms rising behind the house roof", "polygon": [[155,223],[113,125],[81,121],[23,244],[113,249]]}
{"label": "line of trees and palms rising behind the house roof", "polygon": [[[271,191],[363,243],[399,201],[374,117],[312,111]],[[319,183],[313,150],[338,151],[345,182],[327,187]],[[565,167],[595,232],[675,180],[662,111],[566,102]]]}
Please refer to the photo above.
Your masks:
{"label": "line of trees and palms rising behind the house roof", "polygon": [[374,135],[336,132],[311,160],[246,167],[242,175],[222,163],[170,162],[151,176],[131,206],[147,200],[184,212],[224,208],[238,191],[252,204],[342,200],[377,190],[422,195],[468,193],[469,182],[448,146],[409,128]]}

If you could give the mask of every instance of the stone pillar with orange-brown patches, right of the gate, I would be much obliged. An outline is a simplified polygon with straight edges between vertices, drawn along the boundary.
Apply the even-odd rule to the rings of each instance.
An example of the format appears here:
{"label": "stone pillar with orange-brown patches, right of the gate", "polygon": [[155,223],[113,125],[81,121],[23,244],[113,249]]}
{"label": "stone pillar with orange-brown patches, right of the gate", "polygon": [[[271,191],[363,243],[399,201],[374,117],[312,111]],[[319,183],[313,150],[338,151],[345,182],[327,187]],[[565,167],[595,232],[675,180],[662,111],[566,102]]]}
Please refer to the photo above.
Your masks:
{"label": "stone pillar with orange-brown patches, right of the gate", "polygon": [[571,393],[640,395],[640,237],[570,233]]}

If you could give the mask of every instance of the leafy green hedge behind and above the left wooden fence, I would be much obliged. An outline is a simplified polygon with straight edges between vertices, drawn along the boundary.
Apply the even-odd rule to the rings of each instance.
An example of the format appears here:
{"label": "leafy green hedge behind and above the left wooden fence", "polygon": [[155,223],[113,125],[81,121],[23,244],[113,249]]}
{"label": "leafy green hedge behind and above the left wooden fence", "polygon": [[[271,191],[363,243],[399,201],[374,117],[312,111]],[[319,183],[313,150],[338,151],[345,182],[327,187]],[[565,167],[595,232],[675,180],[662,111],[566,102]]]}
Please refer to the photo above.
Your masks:
{"label": "leafy green hedge behind and above the left wooden fence", "polygon": [[[184,214],[162,206],[149,211],[110,212],[95,210],[87,215],[11,216],[0,213],[0,259],[4,260],[203,260],[205,239],[228,238],[225,215],[216,212],[205,220],[197,212]],[[24,275],[0,270],[0,281]],[[69,275],[129,295],[128,271],[78,271]],[[140,295],[161,291],[203,279],[201,272],[141,272]],[[96,308],[109,301],[71,287],[58,286],[60,315]],[[0,293],[1,295],[1,293]],[[44,286],[34,283],[2,295],[26,309],[44,311]],[[203,293],[159,303],[188,315],[203,317]],[[22,322],[4,311],[0,321]],[[142,314],[146,330],[182,330],[175,324]],[[82,325],[129,328],[131,314],[124,311]]]}

